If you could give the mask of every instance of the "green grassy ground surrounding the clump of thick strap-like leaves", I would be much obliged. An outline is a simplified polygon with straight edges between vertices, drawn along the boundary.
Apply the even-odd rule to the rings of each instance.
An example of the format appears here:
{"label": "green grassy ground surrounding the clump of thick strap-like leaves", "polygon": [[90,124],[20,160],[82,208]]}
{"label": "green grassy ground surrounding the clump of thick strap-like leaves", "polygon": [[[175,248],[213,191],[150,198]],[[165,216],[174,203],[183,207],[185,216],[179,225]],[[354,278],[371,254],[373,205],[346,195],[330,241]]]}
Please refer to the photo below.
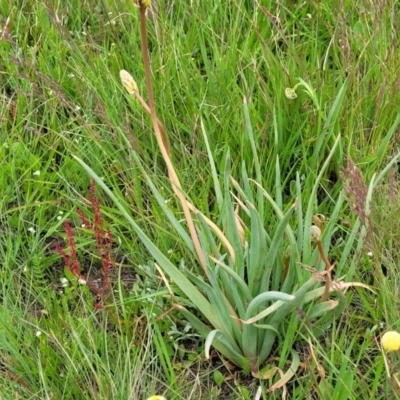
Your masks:
{"label": "green grassy ground surrounding the clump of thick strap-like leaves", "polygon": [[[119,81],[119,71],[128,70],[146,98],[132,2],[0,0],[0,10],[0,398],[253,399],[259,386],[263,398],[284,396],[283,389],[265,393],[272,378],[230,370],[217,355],[205,360],[203,338],[181,314],[167,312],[173,298],[163,274],[100,190],[117,266],[109,310],[96,308],[93,289],[73,279],[55,250],[65,246],[69,221],[83,274],[95,281],[102,256],[76,211],[95,217],[91,179],[73,154],[125,199],[173,263],[192,260],[132,157],[139,155],[180,215],[150,118]],[[221,180],[228,151],[235,179],[242,165],[250,177],[258,173],[243,98],[263,187],[282,208],[296,182],[307,206],[340,135],[313,204],[314,214],[330,218],[342,181],[350,180],[332,244],[340,264],[341,240],[366,213],[361,178],[343,172],[347,160],[369,185],[399,151],[399,13],[395,0],[153,1],[148,32],[157,111],[196,207],[219,217],[201,121]],[[307,86],[288,99],[285,89],[297,78]],[[400,390],[379,348],[382,332],[400,329],[398,174],[394,163],[375,189],[368,240],[358,253],[354,243],[349,251],[357,263],[343,265],[336,277],[374,293],[349,290],[324,335],[299,335],[302,364],[286,385],[288,398],[388,399]],[[268,218],[263,222],[268,226]],[[276,348],[271,365],[282,351],[288,349]],[[395,354],[388,363],[391,374],[398,370]]]}

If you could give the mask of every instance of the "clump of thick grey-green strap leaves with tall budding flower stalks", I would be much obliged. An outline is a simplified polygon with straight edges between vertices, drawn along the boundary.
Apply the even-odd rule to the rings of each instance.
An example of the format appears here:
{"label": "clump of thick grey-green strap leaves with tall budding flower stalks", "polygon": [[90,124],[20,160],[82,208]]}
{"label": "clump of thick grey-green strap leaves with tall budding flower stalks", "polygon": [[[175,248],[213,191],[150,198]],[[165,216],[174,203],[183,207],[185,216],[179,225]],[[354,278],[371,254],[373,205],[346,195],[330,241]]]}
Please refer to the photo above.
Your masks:
{"label": "clump of thick grey-green strap leaves with tall budding flower stalks", "polygon": [[[165,160],[168,176],[185,216],[187,230],[168,207],[156,184],[146,173],[136,153],[132,157],[141,168],[154,199],[165,213],[176,235],[187,247],[190,260],[182,260],[181,267],[173,264],[143,232],[132,218],[124,199],[117,198],[106,184],[82,160],[76,160],[96,180],[114,201],[122,215],[169,277],[169,287],[174,291],[175,309],[204,337],[205,353],[211,357],[215,348],[223,358],[250,372],[257,378],[270,378],[280,372],[280,378],[270,390],[284,386],[300,365],[299,354],[294,349],[299,333],[318,337],[338,317],[345,306],[343,291],[354,282],[337,282],[331,278],[334,267],[351,263],[352,245],[359,230],[358,224],[344,246],[338,266],[329,262],[331,238],[337,230],[339,211],[343,205],[342,194],[326,224],[318,222],[314,207],[320,181],[338,148],[338,135],[330,154],[312,186],[306,209],[303,209],[300,177],[295,182],[295,196],[288,207],[262,187],[262,174],[253,137],[247,103],[244,101],[246,132],[250,140],[256,166],[256,178],[250,179],[246,166],[237,179],[231,176],[229,153],[220,176],[203,124],[202,132],[208,151],[214,182],[218,222],[212,221],[186,197],[175,171],[165,128],[157,117],[153,98],[151,70],[147,45],[146,8],[149,1],[136,1],[140,12],[140,30],[148,104],[127,71],[121,71],[121,80],[127,91],[135,96],[144,111],[151,117],[155,137]],[[127,143],[129,143],[127,141]],[[280,188],[279,162],[277,160],[277,188]],[[239,181],[241,183],[239,183]],[[278,189],[277,189],[278,190]],[[313,218],[314,217],[314,218]],[[294,221],[296,230],[289,224]],[[314,224],[313,225],[313,221]],[[321,226],[318,226],[321,225]],[[266,228],[268,226],[268,228]],[[362,241],[362,235],[359,236]],[[362,244],[361,244],[362,245]],[[195,263],[192,261],[195,260]],[[187,265],[191,267],[187,267]],[[198,268],[196,265],[198,266]],[[272,354],[279,354],[279,367],[265,370]],[[286,373],[281,370],[290,361]]]}

